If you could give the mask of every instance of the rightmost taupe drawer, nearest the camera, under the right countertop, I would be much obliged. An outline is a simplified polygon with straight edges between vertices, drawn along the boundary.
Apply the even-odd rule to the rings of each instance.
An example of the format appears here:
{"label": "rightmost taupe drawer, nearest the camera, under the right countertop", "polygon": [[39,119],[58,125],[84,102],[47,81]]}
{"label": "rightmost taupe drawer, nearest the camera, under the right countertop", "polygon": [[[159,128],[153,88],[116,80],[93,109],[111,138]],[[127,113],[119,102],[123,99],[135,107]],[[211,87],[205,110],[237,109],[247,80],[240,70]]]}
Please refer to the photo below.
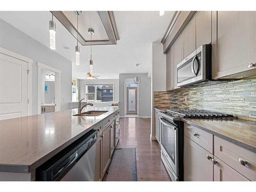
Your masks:
{"label": "rightmost taupe drawer, nearest the camera, under the right countertop", "polygon": [[[214,137],[214,155],[251,181],[256,181],[256,154]],[[245,164],[244,164],[245,162]]]}

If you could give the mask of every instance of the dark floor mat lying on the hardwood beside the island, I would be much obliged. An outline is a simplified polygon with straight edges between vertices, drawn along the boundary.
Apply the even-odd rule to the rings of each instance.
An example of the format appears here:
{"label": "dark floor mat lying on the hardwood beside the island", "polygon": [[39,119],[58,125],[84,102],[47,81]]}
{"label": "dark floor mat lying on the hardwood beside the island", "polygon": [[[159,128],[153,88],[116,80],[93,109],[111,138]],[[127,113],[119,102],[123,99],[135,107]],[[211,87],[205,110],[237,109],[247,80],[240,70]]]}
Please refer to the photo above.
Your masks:
{"label": "dark floor mat lying on the hardwood beside the island", "polygon": [[116,148],[103,181],[137,181],[136,148]]}

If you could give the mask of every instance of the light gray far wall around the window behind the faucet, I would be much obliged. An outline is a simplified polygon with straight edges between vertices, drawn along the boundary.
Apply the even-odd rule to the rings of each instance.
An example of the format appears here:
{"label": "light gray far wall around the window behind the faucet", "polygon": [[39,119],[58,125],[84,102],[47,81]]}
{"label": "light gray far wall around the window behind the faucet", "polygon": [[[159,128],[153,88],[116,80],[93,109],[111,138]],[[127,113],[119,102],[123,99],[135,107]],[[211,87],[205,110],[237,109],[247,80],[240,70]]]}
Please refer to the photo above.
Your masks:
{"label": "light gray far wall around the window behind the faucet", "polygon": [[[119,80],[118,79],[83,79],[80,83],[80,99],[86,98],[85,83],[114,83],[114,101],[119,101]],[[95,106],[108,106],[108,103],[94,102]]]}

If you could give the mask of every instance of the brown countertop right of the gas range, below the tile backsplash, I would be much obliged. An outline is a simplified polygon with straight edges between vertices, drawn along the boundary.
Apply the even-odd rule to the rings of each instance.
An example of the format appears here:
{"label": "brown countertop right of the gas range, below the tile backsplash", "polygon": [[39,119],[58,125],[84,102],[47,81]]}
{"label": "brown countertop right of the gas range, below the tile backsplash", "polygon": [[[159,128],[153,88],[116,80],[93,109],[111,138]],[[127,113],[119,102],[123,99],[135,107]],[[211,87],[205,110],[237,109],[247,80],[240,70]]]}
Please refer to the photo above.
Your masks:
{"label": "brown countertop right of the gas range, below the tile backsplash", "polygon": [[256,122],[242,119],[190,119],[182,121],[256,153]]}

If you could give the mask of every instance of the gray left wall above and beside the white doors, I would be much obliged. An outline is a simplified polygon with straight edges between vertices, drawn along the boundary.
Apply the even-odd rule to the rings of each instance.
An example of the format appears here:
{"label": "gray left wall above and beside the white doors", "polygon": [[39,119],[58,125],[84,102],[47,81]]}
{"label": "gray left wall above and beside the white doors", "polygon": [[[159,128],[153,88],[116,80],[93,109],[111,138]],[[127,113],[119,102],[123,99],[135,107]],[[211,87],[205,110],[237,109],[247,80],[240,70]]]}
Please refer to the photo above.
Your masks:
{"label": "gray left wall above and beside the white doors", "polygon": [[0,47],[33,59],[32,114],[37,114],[37,61],[61,71],[60,110],[69,109],[71,102],[72,63],[49,47],[0,19]]}

